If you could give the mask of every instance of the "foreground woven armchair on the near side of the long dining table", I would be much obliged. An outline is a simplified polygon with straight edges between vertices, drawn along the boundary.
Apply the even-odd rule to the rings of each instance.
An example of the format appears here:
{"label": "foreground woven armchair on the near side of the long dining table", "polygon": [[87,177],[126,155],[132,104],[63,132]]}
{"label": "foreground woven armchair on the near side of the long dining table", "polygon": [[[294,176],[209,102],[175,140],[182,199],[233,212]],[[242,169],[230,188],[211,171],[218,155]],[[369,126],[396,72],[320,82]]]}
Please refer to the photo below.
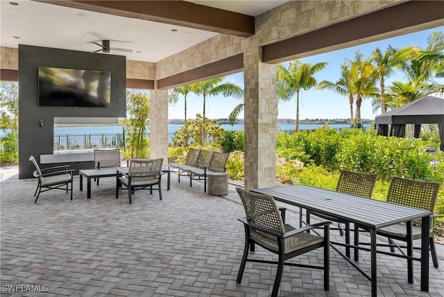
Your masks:
{"label": "foreground woven armchair on the near side of the long dining table", "polygon": [[[303,228],[293,228],[284,223],[278,206],[272,196],[255,194],[247,192],[244,189],[237,188],[237,192],[241,197],[242,204],[246,213],[246,218],[239,219],[244,223],[245,229],[245,246],[244,255],[242,256],[241,266],[237,275],[237,283],[240,284],[242,275],[247,261],[263,262],[278,264],[278,271],[276,273],[275,282],[273,285],[273,292],[271,296],[277,296],[280,280],[284,264],[290,266],[302,266],[305,268],[323,269],[324,271],[324,289],[329,289],[329,225],[330,222],[317,223],[315,226],[305,226]],[[308,230],[321,227],[324,228],[323,237],[309,234]],[[279,255],[278,262],[271,262],[266,260],[248,260],[248,251],[251,244],[258,244],[268,251]],[[313,251],[316,248],[324,248],[324,265],[312,266],[296,263],[284,263],[284,261]]]}

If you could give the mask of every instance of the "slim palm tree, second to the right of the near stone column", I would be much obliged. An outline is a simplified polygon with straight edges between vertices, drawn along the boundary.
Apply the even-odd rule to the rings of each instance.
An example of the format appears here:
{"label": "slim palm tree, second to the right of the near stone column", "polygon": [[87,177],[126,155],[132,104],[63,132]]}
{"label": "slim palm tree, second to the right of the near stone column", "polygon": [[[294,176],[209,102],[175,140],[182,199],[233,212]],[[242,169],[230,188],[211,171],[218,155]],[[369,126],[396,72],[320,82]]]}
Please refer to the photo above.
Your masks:
{"label": "slim palm tree, second to the right of the near stone column", "polygon": [[333,83],[329,80],[323,80],[318,84],[318,90],[329,89],[340,94],[342,96],[348,97],[348,102],[350,103],[350,125],[353,124],[353,103],[355,103],[355,91],[353,90],[353,84],[351,79],[350,69],[346,65],[341,65],[341,77]]}

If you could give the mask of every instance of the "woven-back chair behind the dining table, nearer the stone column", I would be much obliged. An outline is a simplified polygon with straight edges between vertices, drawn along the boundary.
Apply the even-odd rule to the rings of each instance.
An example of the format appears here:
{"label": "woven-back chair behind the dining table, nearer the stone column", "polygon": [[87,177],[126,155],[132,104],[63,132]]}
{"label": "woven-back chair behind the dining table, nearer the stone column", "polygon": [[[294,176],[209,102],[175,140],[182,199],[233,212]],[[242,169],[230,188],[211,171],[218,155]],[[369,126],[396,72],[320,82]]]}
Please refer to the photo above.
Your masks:
{"label": "woven-back chair behind the dining table, nearer the stone column", "polygon": [[[376,180],[377,174],[343,170],[336,184],[336,192],[371,198]],[[336,222],[338,227],[330,228],[330,230],[339,230],[341,236],[345,235],[345,244],[350,244],[350,223],[348,221],[307,211],[307,223],[310,223],[311,215]],[[300,210],[300,222],[302,222],[302,210]],[[345,226],[345,231],[342,224]],[[350,258],[350,246],[345,246],[345,255]]]}

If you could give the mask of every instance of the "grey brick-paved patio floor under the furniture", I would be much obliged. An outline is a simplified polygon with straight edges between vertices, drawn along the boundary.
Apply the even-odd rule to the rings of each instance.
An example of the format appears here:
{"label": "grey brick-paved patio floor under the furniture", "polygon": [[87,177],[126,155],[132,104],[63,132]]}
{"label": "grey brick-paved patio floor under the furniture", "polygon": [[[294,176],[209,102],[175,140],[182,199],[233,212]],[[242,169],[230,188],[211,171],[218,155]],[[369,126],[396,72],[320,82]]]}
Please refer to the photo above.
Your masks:
{"label": "grey brick-paved patio floor under the furniture", "polygon": [[[203,185],[189,187],[171,174],[170,191],[162,183],[162,201],[156,192],[141,191],[128,204],[126,197],[115,198],[115,178],[101,178],[92,185],[100,190],[87,199],[75,176],[72,201],[69,193],[49,191],[34,203],[35,179],[1,173],[2,296],[23,296],[17,288],[26,286],[44,296],[270,296],[275,265],[248,262],[241,284],[236,282],[244,251],[244,227],[237,219],[245,212],[234,185],[226,196],[210,196]],[[296,226],[298,207],[285,206],[287,222]],[[365,233],[359,239],[369,241]],[[344,239],[331,230],[330,240]],[[322,250],[291,261],[322,265]],[[377,296],[444,296],[443,246],[437,251],[441,265],[436,269],[429,259],[428,292],[420,291],[419,262],[413,263],[411,285],[407,261],[378,254]],[[359,256],[359,266],[368,271],[369,253]],[[248,257],[276,260],[260,247]],[[12,293],[8,286],[22,287]],[[322,271],[285,266],[278,296],[370,293],[370,282],[330,248],[329,291]]]}

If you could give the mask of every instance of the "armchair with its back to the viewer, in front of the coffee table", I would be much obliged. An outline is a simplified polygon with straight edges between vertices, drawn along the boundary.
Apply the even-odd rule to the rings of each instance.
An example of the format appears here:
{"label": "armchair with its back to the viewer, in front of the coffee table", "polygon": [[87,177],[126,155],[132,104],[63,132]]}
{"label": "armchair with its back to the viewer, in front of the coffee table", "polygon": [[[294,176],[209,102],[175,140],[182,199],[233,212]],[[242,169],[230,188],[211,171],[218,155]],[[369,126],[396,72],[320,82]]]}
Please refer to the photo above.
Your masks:
{"label": "armchair with its back to the viewer, in front of the coffee table", "polygon": [[162,200],[162,162],[163,158],[130,160],[127,172],[117,171],[116,198],[119,198],[119,189],[126,187],[132,204],[131,194],[139,189],[149,189],[150,194],[153,194],[153,186],[157,185],[159,200]]}

